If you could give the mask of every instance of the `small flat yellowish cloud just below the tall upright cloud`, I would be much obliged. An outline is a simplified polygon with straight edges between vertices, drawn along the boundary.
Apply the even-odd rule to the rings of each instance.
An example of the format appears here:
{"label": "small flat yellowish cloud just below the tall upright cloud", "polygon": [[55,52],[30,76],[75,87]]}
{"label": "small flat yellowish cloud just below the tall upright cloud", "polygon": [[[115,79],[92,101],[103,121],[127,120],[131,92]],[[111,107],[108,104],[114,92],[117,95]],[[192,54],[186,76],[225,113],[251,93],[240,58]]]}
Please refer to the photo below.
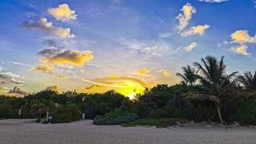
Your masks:
{"label": "small flat yellowish cloud just below the tall upright cloud", "polygon": [[205,30],[207,30],[210,26],[208,24],[204,25],[198,25],[195,27],[190,27],[190,30],[185,30],[184,32],[181,32],[180,35],[187,37],[188,35],[203,35],[205,33]]}

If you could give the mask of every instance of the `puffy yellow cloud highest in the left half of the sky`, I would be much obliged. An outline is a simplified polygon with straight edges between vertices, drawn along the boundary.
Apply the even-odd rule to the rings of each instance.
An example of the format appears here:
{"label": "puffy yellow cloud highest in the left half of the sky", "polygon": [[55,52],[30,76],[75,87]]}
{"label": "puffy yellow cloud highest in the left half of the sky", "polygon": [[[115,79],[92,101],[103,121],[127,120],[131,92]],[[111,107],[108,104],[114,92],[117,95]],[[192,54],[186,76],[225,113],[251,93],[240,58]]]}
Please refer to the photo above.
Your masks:
{"label": "puffy yellow cloud highest in the left half of the sky", "polygon": [[77,15],[74,10],[69,9],[68,4],[60,4],[57,8],[48,9],[49,14],[56,18],[56,20],[69,21],[76,19]]}

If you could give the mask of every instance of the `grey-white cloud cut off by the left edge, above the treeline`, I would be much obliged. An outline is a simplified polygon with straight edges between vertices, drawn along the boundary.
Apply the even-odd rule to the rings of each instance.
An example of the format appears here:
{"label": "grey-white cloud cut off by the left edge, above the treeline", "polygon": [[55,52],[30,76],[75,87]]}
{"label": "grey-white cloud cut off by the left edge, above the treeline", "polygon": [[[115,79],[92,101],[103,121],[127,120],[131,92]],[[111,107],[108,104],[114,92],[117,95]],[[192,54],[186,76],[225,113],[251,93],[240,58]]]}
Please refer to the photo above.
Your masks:
{"label": "grey-white cloud cut off by the left edge, above the treeline", "polygon": [[20,81],[18,78],[22,78],[22,76],[19,76],[15,73],[9,72],[9,71],[3,71],[0,68],[0,85],[3,84],[24,84],[25,81]]}

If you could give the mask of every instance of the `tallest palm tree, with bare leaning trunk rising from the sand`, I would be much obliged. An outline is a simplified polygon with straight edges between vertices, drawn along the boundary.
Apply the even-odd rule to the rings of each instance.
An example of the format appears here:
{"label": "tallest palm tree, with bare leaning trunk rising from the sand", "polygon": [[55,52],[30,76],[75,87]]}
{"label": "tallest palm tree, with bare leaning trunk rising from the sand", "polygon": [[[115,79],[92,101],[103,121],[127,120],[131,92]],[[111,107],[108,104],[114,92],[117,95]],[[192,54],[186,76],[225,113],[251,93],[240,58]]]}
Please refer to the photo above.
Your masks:
{"label": "tallest palm tree, with bare leaning trunk rising from the sand", "polygon": [[234,76],[237,72],[226,74],[226,65],[224,64],[224,56],[221,56],[221,60],[217,60],[211,55],[207,55],[206,58],[201,58],[203,64],[194,63],[194,66],[198,68],[200,75],[198,79],[203,86],[203,90],[206,94],[197,95],[197,99],[208,99],[216,104],[216,109],[219,115],[219,120],[224,123],[221,116],[221,101],[230,95],[230,92],[234,88]]}

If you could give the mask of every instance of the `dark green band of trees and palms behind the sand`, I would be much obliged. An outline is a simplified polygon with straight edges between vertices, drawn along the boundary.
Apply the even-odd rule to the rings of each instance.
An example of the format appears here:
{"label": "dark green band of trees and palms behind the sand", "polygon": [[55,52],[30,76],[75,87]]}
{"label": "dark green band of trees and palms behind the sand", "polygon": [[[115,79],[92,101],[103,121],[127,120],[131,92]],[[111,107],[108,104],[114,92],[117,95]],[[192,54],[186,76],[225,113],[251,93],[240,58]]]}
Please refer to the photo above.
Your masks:
{"label": "dark green band of trees and palms behind the sand", "polygon": [[135,99],[115,91],[81,94],[40,91],[23,98],[0,96],[0,118],[53,116],[53,122],[94,119],[97,125],[115,125],[136,119],[183,118],[195,122],[240,122],[256,125],[256,72],[226,73],[224,57],[202,58],[200,63],[182,67],[180,84],[145,89]]}

